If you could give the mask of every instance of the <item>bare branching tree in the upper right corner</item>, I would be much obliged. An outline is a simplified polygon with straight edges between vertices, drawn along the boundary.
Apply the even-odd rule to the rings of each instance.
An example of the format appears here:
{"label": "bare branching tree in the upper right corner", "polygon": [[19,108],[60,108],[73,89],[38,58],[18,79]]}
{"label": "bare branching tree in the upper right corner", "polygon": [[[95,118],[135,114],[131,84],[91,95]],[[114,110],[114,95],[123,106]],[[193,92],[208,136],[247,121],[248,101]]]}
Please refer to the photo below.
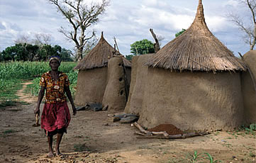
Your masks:
{"label": "bare branching tree in the upper right corner", "polygon": [[245,22],[243,21],[243,18],[238,16],[236,13],[230,13],[228,14],[228,18],[230,18],[230,21],[233,21],[236,26],[240,30],[242,30],[245,33],[245,43],[249,43],[250,50],[253,50],[256,43],[256,0],[238,0],[240,3],[244,4],[248,7],[250,10],[250,16],[252,18],[252,24],[245,25]]}

